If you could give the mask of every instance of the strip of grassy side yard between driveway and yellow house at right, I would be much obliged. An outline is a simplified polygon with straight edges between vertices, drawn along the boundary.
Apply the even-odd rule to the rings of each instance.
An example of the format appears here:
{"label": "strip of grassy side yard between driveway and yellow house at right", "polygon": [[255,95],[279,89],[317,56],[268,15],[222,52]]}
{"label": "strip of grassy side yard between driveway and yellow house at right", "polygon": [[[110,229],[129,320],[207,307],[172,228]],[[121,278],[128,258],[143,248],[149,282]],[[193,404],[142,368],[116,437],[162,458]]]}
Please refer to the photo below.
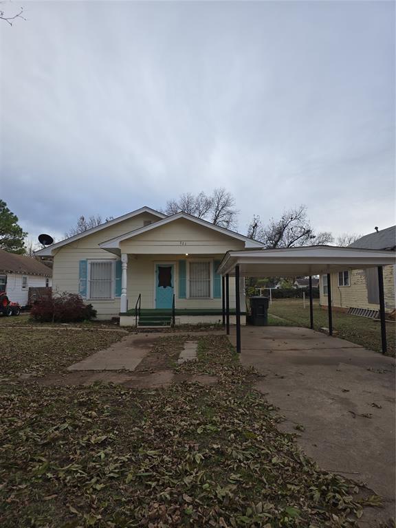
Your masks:
{"label": "strip of grassy side yard between driveway and yellow house at right", "polygon": [[[276,299],[269,309],[269,321],[273,326],[295,326],[309,328],[309,300],[303,307],[302,299]],[[276,319],[276,317],[282,319]],[[329,327],[327,307],[320,308],[318,300],[314,301],[314,328]],[[366,349],[381,352],[380,321],[366,317],[351,316],[344,312],[333,310],[333,328],[338,331],[338,337]],[[386,323],[386,336],[388,338],[387,355],[395,356],[395,323]]]}

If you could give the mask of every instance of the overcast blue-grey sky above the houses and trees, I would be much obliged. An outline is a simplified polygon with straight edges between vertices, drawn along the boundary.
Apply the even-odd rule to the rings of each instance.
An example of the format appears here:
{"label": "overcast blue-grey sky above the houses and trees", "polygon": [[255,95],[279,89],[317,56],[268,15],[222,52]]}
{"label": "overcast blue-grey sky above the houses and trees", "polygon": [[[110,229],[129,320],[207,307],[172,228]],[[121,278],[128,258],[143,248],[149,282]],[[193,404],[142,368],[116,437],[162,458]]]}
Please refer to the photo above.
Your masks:
{"label": "overcast blue-grey sky above the houses and trees", "polygon": [[32,238],[219,186],[241,232],[300,203],[334,234],[395,223],[393,2],[21,3],[0,196]]}

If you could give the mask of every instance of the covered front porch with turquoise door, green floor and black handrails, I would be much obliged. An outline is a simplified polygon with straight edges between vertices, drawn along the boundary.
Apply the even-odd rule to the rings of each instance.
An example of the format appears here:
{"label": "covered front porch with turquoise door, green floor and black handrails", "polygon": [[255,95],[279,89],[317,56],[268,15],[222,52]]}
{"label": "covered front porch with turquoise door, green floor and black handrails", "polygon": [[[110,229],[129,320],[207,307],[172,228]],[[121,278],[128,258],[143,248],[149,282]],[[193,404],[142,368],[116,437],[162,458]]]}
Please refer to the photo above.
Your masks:
{"label": "covered front porch with turquoise door, green floor and black handrails", "polygon": [[[225,288],[217,274],[222,254],[122,254],[120,326],[222,324]],[[243,279],[241,323],[245,324]],[[228,290],[230,322],[236,323],[235,285]]]}

